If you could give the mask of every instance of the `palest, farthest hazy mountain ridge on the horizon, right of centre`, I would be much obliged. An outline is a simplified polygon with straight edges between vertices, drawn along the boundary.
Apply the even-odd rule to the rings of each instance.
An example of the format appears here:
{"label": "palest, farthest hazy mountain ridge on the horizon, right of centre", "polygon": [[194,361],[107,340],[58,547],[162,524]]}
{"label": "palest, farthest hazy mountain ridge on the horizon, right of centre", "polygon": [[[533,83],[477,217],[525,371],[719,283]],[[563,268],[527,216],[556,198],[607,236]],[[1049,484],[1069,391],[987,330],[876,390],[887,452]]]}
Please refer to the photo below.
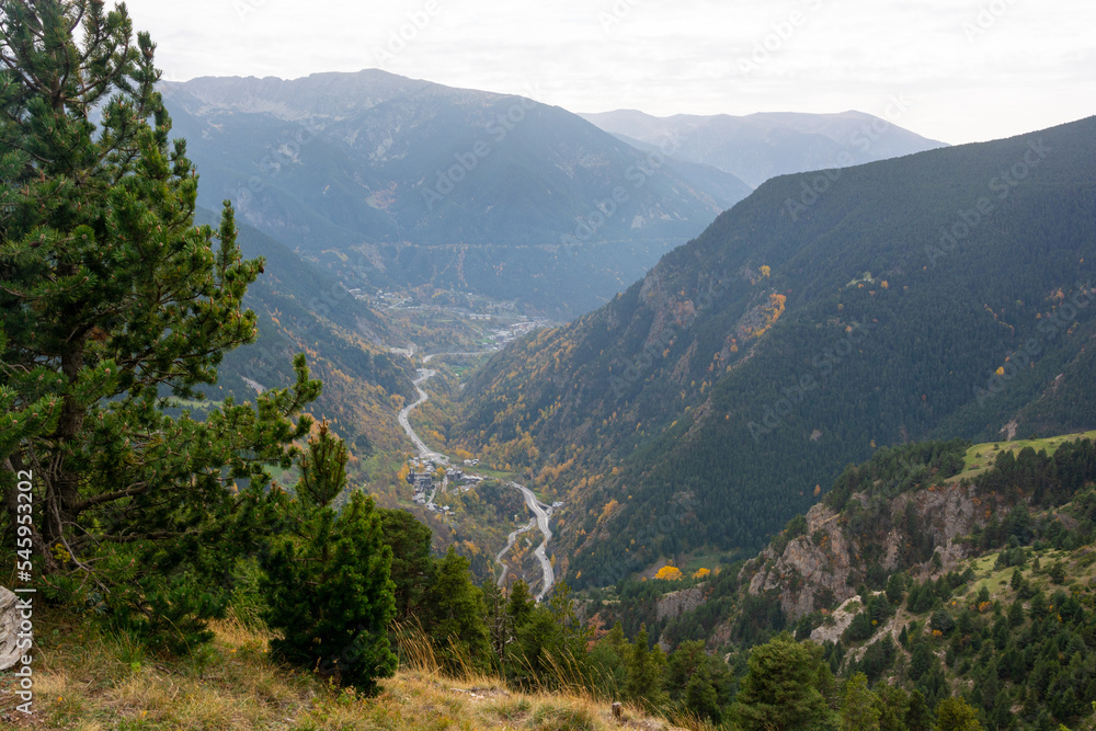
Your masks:
{"label": "palest, farthest hazy mountain ridge on the horizon, right of centre", "polygon": [[638,145],[677,140],[677,158],[713,165],[753,186],[777,175],[847,168],[946,147],[861,112],[654,117],[618,110],[580,116]]}

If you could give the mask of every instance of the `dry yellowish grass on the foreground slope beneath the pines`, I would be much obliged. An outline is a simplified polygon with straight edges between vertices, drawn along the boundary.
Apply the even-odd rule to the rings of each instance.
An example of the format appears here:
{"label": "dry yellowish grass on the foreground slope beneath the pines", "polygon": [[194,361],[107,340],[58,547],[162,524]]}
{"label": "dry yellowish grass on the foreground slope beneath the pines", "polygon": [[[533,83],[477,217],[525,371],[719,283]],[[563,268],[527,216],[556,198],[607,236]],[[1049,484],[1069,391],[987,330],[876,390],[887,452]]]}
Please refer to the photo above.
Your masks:
{"label": "dry yellowish grass on the foreground slope beneath the pines", "polygon": [[[16,701],[4,693],[10,683],[0,681],[0,726],[80,731],[621,728],[609,705],[589,695],[513,693],[498,678],[468,671],[446,676],[414,632],[401,642],[406,666],[384,681],[377,697],[363,698],[273,662],[270,636],[237,618],[216,623],[213,643],[189,659],[152,656],[70,615],[47,614],[39,628],[35,716],[15,712]],[[671,728],[632,708],[625,716],[623,728]]]}

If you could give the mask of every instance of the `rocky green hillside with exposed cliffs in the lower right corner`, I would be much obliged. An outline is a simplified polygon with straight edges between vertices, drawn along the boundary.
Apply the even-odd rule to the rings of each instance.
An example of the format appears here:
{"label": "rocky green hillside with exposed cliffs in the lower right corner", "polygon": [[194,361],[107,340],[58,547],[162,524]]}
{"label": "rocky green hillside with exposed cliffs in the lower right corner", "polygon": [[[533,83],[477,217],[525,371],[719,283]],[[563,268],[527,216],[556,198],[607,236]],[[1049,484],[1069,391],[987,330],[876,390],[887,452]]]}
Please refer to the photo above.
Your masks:
{"label": "rocky green hillside with exposed cliffs in the lower right corner", "polygon": [[[971,479],[964,454],[990,466]],[[591,590],[586,610],[627,636],[646,627],[675,655],[726,656],[735,677],[719,704],[741,700],[751,651],[794,635],[846,693],[863,674],[884,716],[895,706],[898,719],[845,728],[926,728],[905,711],[920,695],[937,718],[962,698],[985,729],[1088,729],[1094,480],[1084,434],[881,449],[751,560]]]}

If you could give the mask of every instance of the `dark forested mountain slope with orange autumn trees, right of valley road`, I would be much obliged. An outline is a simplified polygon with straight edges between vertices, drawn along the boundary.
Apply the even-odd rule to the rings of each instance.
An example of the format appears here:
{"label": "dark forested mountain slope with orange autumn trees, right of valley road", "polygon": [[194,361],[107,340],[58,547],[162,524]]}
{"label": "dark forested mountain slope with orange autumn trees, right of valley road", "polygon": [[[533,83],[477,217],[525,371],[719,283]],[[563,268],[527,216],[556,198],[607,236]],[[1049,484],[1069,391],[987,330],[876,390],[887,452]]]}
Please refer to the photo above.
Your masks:
{"label": "dark forested mountain slope with orange autumn trees, right of valley road", "polygon": [[496,355],[450,443],[566,506],[559,573],[756,548],[884,445],[1096,427],[1096,117],[763,184]]}

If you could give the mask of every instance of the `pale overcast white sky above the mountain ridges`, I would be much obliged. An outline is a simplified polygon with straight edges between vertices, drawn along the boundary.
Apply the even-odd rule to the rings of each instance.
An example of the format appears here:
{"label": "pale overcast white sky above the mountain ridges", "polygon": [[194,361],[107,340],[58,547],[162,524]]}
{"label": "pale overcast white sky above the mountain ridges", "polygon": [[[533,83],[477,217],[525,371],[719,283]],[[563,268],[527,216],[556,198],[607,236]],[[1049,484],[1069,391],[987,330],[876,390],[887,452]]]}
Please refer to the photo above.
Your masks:
{"label": "pale overcast white sky above the mountain ridges", "polygon": [[[1092,0],[129,0],[165,78],[380,68],[572,112],[882,115],[947,142],[1096,114]],[[402,37],[400,37],[402,36]]]}

